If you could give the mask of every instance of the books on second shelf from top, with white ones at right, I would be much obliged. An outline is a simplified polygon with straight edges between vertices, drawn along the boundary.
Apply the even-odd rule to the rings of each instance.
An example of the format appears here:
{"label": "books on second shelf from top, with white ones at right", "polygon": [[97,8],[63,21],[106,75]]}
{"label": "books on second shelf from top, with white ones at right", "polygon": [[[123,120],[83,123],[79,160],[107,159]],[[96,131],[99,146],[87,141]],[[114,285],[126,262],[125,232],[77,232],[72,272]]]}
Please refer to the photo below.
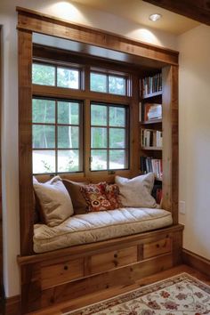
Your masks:
{"label": "books on second shelf from top, with white ones at right", "polygon": [[147,122],[162,118],[162,104],[140,103],[140,121]]}

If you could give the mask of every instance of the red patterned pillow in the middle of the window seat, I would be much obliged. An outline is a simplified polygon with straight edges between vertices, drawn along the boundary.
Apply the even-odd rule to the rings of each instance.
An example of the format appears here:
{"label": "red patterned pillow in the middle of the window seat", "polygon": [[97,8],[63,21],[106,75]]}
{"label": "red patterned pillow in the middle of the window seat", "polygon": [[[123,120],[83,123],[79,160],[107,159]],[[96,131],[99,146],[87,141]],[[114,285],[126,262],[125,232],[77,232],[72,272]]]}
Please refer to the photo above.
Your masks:
{"label": "red patterned pillow in the middle of the window seat", "polygon": [[112,206],[106,196],[106,186],[106,182],[100,182],[81,187],[89,212],[112,210]]}

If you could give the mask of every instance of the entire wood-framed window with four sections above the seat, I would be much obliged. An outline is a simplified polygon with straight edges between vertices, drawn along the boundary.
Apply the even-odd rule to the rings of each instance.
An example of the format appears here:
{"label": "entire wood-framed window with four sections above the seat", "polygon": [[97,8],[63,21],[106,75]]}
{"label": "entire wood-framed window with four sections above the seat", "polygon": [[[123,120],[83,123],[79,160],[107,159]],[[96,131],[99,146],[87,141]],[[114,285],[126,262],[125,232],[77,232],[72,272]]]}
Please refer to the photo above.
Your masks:
{"label": "entire wood-framed window with four sections above the seat", "polygon": [[127,74],[36,59],[32,84],[33,174],[128,168]]}

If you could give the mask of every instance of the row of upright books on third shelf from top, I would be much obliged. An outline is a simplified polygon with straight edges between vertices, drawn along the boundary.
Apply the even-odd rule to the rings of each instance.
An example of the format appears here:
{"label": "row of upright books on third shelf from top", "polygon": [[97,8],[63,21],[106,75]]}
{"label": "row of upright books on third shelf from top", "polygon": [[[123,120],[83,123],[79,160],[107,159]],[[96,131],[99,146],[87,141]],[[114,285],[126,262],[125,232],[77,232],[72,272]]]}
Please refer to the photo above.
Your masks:
{"label": "row of upright books on third shelf from top", "polygon": [[157,147],[163,146],[163,133],[154,129],[141,128],[141,147]]}

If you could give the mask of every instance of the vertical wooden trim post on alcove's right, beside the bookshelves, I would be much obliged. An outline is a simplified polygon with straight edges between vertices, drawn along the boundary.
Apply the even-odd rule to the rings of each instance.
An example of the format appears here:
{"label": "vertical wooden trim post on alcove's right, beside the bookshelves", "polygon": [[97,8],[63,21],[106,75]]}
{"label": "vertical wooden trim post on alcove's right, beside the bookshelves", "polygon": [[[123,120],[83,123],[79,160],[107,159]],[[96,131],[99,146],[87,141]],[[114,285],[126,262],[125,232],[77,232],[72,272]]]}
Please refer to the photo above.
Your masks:
{"label": "vertical wooden trim post on alcove's right, beside the bookshelves", "polygon": [[166,67],[163,76],[163,208],[178,223],[178,67]]}

